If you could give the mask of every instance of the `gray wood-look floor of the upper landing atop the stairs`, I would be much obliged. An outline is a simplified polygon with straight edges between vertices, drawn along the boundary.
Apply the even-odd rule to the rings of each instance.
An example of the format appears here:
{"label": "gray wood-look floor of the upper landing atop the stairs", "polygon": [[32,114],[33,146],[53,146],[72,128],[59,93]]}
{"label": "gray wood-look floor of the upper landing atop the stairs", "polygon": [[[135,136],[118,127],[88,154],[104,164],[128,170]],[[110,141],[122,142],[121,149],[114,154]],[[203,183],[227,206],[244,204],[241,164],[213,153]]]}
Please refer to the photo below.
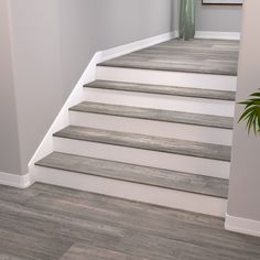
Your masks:
{"label": "gray wood-look floor of the upper landing atop the stairs", "polygon": [[237,75],[239,41],[171,40],[101,63],[101,66]]}

